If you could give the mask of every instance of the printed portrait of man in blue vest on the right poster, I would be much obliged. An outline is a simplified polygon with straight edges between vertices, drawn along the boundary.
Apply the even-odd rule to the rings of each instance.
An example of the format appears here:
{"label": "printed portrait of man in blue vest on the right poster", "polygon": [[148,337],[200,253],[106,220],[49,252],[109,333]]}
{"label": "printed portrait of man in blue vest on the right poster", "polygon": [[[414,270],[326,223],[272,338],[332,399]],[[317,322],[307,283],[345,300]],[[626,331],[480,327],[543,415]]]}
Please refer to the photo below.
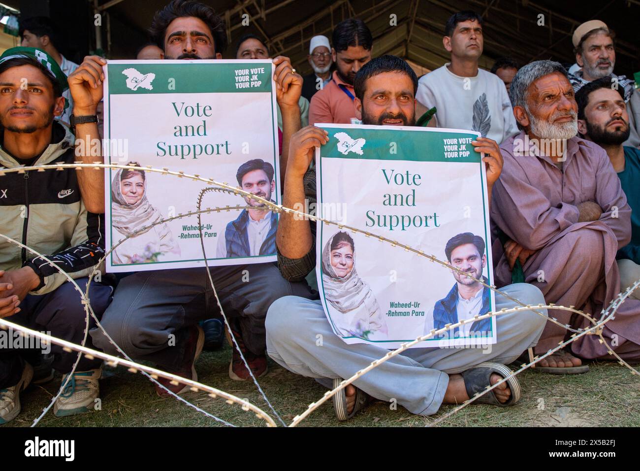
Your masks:
{"label": "printed portrait of man in blue vest on the right poster", "polygon": [[[481,236],[465,232],[453,236],[447,242],[444,252],[452,267],[470,274],[476,279],[484,279],[486,267],[484,240]],[[490,290],[468,276],[451,270],[456,284],[451,291],[433,307],[433,327],[442,329],[447,324],[456,324],[463,319],[471,319],[490,311]],[[468,322],[447,332],[447,337],[491,336],[491,319]]]}

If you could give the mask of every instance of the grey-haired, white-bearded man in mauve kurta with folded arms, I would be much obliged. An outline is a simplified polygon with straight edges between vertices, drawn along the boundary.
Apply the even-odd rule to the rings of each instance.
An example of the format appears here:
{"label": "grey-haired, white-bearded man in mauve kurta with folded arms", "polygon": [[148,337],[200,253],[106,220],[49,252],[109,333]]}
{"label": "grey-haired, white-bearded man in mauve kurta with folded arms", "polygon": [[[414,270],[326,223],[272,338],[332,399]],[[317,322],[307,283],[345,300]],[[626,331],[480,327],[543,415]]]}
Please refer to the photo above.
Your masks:
{"label": "grey-haired, white-bearded man in mauve kurta with folded arms", "polygon": [[[631,236],[627,198],[607,154],[576,136],[577,104],[566,70],[557,62],[532,62],[511,83],[513,114],[522,129],[500,149],[504,167],[493,186],[492,222],[511,240],[494,243],[496,284],[511,281],[520,260],[525,281],[538,286],[548,303],[575,306],[596,318],[620,292],[618,247]],[[574,329],[586,318],[554,310],[550,317]],[[536,354],[572,334],[548,322]],[[582,336],[538,363],[554,374],[588,370],[580,358],[640,359],[640,303],[627,299],[603,327],[606,343]],[[531,353],[531,352],[530,352]],[[577,358],[579,357],[579,358]]]}

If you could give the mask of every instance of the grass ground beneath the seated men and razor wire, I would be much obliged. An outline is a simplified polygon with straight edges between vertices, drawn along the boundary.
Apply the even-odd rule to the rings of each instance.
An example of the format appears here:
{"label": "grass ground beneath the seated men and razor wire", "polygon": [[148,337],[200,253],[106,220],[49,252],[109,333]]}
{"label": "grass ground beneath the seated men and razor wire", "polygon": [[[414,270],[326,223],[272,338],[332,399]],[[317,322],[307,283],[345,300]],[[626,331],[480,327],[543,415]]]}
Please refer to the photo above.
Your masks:
{"label": "grass ground beneath the seated men and razor wire", "polygon": [[[227,371],[231,349],[204,352],[196,367],[200,381],[243,397],[270,413],[264,399],[251,382],[229,379]],[[40,426],[47,427],[172,427],[221,426],[176,399],[160,399],[152,384],[141,374],[124,368],[104,370],[100,381],[102,409],[72,417],[57,418],[50,411]],[[448,418],[442,425],[454,427],[579,427],[640,426],[640,377],[616,363],[593,363],[588,374],[552,376],[525,371],[518,376],[524,397],[515,406],[496,408],[470,405]],[[5,427],[28,427],[49,404],[60,386],[60,376],[44,386],[30,386],[22,394],[22,413]],[[325,389],[316,381],[296,376],[269,360],[269,373],[260,386],[276,411],[287,422],[317,401]],[[236,426],[263,426],[264,422],[239,406],[204,393],[189,392],[185,399]],[[314,411],[301,426],[421,427],[451,410],[443,406],[438,415],[419,417],[401,406],[391,410],[385,402],[375,402],[348,422],[338,422],[331,401]]]}

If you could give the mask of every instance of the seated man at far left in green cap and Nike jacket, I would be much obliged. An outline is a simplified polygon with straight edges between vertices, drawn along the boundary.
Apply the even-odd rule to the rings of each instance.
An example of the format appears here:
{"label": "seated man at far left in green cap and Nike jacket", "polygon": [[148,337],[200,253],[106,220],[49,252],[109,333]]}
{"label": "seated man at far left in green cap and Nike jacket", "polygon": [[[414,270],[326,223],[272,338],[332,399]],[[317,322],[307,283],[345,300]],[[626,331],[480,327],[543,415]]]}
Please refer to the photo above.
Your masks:
{"label": "seated man at far left in green cap and Nike jacket", "polygon": [[[27,87],[23,87],[26,79]],[[60,124],[67,76],[49,54],[13,47],[0,57],[0,169],[51,163],[74,163],[74,136]],[[104,255],[104,219],[89,213],[80,197],[76,172],[27,171],[0,177],[0,232],[45,256],[76,279],[83,290],[94,265]],[[82,343],[86,314],[80,294],[48,261],[0,240],[0,317],[52,336]],[[111,300],[111,286],[89,290],[95,315]],[[93,318],[90,325],[95,326]],[[6,335],[6,332],[4,332]],[[15,334],[10,339],[15,339]],[[10,342],[11,343],[11,342]],[[87,347],[93,348],[90,340]],[[13,347],[13,348],[12,348]],[[0,424],[20,413],[20,392],[33,379],[52,379],[51,366],[67,381],[77,352],[51,345],[53,362],[37,361],[20,345],[0,346]],[[36,352],[37,353],[37,352]],[[27,361],[26,361],[27,360]],[[40,365],[34,376],[33,365]],[[83,356],[63,395],[54,405],[57,416],[86,412],[99,395],[99,359]],[[37,370],[38,368],[36,368]]]}

